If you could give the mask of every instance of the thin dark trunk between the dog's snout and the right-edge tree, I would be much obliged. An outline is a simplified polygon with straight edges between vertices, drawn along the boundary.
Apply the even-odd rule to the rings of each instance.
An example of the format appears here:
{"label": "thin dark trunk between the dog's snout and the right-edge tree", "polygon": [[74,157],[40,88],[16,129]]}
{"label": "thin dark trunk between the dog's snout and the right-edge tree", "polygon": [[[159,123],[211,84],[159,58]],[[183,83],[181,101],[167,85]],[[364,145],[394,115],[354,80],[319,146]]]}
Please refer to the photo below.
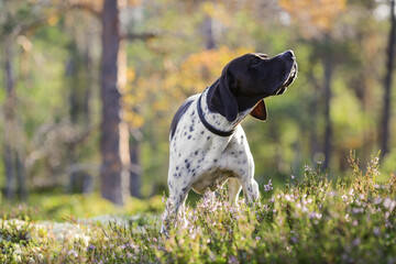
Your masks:
{"label": "thin dark trunk between the dog's snout and the right-edge tree", "polygon": [[[324,40],[329,43],[329,36]],[[332,123],[330,117],[330,107],[331,107],[331,80],[332,80],[332,59],[331,52],[324,51],[323,55],[323,98],[324,98],[324,144],[323,144],[323,153],[324,153],[324,163],[323,169],[328,168],[331,160],[331,151],[332,151]]]}

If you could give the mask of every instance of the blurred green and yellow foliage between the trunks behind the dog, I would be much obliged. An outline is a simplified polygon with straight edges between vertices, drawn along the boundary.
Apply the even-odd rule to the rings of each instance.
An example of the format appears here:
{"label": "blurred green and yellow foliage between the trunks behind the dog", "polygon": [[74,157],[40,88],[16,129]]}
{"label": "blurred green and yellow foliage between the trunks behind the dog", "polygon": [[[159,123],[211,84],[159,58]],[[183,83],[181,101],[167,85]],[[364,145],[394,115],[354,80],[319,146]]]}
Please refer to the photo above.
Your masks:
{"label": "blurred green and yellow foliage between the trunks behind the dog", "polygon": [[[89,10],[100,11],[101,1],[82,1],[84,8],[68,6],[79,2],[0,0],[0,37],[12,43],[9,46],[12,46],[20,130],[15,134],[21,135],[15,147],[25,156],[22,160],[29,187],[33,189],[43,183],[64,187],[68,168],[82,163],[92,164],[90,167],[96,168],[84,173],[98,178],[95,176],[100,167],[101,29],[100,20]],[[273,56],[292,48],[299,65],[298,79],[288,91],[266,99],[268,121],[258,123],[248,119],[243,123],[256,161],[258,183],[274,175],[274,185],[284,183],[290,173],[304,170],[307,161],[323,160],[322,58],[327,54],[333,59],[331,173],[339,175],[345,170],[348,165],[342,161],[350,148],[358,150],[364,162],[378,148],[376,127],[382,109],[388,24],[375,13],[385,3],[125,2],[127,6],[120,6],[121,33],[156,34],[150,40],[125,40],[121,45],[121,53],[127,54],[127,65],[122,65],[127,66],[122,118],[140,145],[143,196],[162,194],[165,189],[168,128],[178,106],[212,84],[230,59],[246,52]],[[208,22],[211,35],[205,30]],[[323,40],[324,32],[330,41]],[[206,48],[208,37],[215,40],[216,48]],[[0,77],[4,84],[4,74]],[[6,94],[2,87],[2,106]],[[78,99],[75,105],[73,96]],[[87,111],[82,110],[85,107]],[[77,123],[70,122],[73,114],[80,117]],[[393,117],[391,131],[395,130],[395,123]],[[92,133],[74,145],[74,133],[68,131],[85,129],[87,124]],[[391,145],[395,145],[395,140]],[[394,152],[384,160],[388,174],[395,169],[391,162]],[[1,163],[1,187],[6,182],[3,170]]]}

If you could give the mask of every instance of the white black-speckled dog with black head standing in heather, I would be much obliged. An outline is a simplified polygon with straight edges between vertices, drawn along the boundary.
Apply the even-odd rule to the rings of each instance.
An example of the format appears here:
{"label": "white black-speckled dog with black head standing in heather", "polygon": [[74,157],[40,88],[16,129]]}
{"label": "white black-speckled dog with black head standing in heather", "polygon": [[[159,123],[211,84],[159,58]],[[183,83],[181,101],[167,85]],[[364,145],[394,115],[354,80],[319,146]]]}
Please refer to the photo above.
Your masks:
{"label": "white black-speckled dog with black head standing in heather", "polygon": [[267,120],[264,98],[278,96],[297,77],[293,51],[270,58],[250,53],[231,61],[202,94],[189,97],[177,110],[169,133],[169,197],[163,215],[165,231],[170,216],[184,207],[188,191],[216,190],[227,182],[229,201],[260,198],[254,162],[241,122],[251,114]]}

